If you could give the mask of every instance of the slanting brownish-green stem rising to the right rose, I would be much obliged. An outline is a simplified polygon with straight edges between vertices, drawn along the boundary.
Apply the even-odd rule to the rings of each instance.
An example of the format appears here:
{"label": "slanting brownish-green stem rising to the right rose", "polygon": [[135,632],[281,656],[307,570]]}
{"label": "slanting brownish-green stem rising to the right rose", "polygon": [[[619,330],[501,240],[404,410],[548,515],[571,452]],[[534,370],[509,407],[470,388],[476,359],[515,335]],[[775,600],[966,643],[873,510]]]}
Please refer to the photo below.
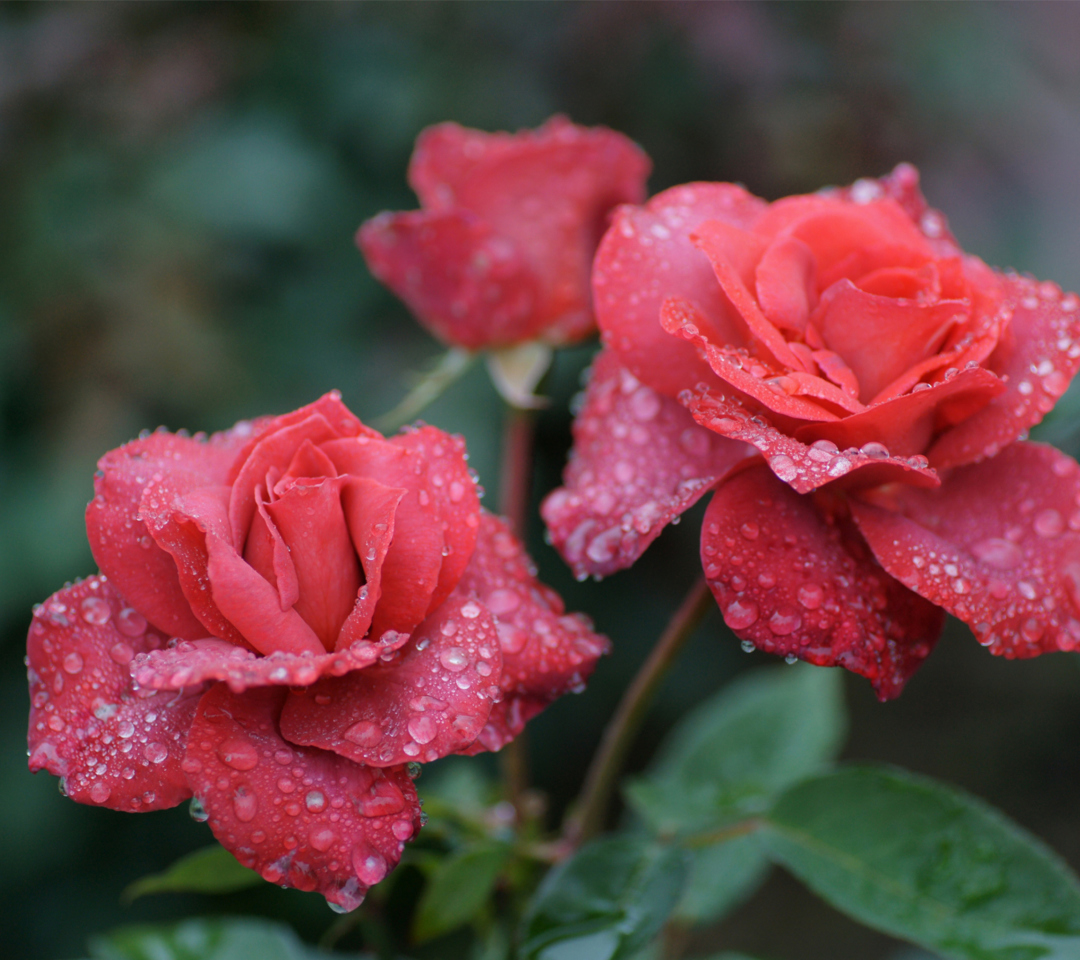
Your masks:
{"label": "slanting brownish-green stem rising to the right rose", "polygon": [[623,694],[615,715],[604,729],[599,748],[585,774],[580,798],[570,809],[563,826],[563,839],[571,849],[583,843],[604,826],[616,780],[652,697],[678,651],[701,623],[711,605],[712,595],[705,579],[699,578]]}

